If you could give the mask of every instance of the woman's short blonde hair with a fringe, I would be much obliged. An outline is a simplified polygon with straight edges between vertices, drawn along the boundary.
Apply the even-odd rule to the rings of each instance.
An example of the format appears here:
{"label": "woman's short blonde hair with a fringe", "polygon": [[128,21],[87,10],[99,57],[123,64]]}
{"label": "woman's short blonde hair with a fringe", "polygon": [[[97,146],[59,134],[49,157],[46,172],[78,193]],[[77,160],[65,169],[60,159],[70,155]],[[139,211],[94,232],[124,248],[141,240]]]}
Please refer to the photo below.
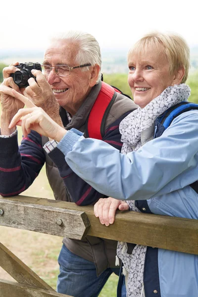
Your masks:
{"label": "woman's short blonde hair with a fringe", "polygon": [[152,32],[141,38],[128,52],[129,55],[140,53],[150,47],[162,47],[168,62],[170,74],[175,73],[180,68],[185,69],[185,74],[181,83],[185,83],[190,69],[190,49],[186,41],[175,33]]}

